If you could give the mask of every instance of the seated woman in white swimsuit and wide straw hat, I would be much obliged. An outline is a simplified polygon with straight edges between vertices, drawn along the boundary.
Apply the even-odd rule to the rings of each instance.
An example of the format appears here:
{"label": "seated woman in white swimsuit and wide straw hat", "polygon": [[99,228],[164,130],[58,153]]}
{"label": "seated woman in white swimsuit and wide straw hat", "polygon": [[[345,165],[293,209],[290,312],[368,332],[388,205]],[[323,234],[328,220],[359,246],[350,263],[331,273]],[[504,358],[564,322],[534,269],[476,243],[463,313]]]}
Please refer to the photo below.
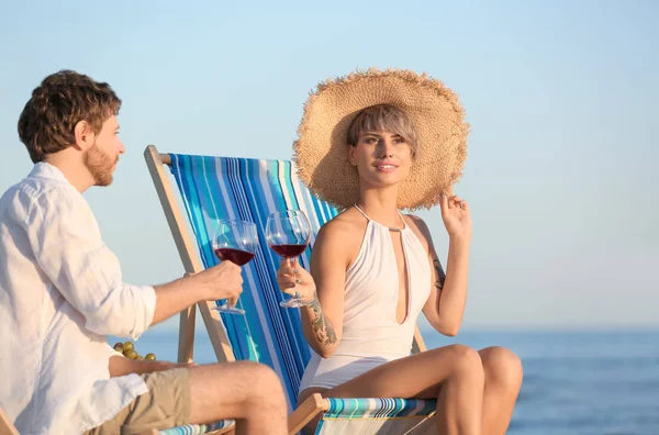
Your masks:
{"label": "seated woman in white swimsuit and wide straw hat", "polygon": [[[437,399],[443,434],[504,434],[522,383],[510,350],[450,345],[410,356],[423,311],[455,336],[467,299],[471,220],[451,192],[468,126],[457,97],[411,71],[369,70],[319,87],[295,143],[300,177],[344,212],[319,232],[311,272],[282,261],[314,350],[300,403],[323,397]],[[426,224],[400,209],[439,203],[446,274]],[[317,421],[310,423],[313,431]]]}

